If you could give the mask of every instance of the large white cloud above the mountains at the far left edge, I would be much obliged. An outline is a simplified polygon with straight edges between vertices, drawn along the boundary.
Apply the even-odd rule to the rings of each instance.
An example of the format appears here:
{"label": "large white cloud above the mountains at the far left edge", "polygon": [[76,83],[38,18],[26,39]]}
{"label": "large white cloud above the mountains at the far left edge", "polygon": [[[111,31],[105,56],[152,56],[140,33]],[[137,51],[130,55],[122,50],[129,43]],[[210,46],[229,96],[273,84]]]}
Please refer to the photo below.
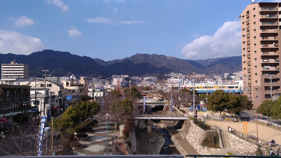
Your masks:
{"label": "large white cloud above the mountains at the far left edge", "polygon": [[46,46],[39,38],[22,35],[15,31],[0,30],[0,53],[24,54],[42,51]]}

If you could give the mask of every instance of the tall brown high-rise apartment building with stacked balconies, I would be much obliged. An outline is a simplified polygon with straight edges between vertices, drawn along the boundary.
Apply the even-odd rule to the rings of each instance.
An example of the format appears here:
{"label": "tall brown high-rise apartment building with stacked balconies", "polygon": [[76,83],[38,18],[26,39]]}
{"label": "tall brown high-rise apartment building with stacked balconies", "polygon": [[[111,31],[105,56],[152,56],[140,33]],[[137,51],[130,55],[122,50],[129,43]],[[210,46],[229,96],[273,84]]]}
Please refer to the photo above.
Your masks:
{"label": "tall brown high-rise apartment building with stacked balconies", "polygon": [[240,18],[243,93],[253,101],[253,108],[257,108],[263,100],[281,93],[281,3],[252,3]]}

